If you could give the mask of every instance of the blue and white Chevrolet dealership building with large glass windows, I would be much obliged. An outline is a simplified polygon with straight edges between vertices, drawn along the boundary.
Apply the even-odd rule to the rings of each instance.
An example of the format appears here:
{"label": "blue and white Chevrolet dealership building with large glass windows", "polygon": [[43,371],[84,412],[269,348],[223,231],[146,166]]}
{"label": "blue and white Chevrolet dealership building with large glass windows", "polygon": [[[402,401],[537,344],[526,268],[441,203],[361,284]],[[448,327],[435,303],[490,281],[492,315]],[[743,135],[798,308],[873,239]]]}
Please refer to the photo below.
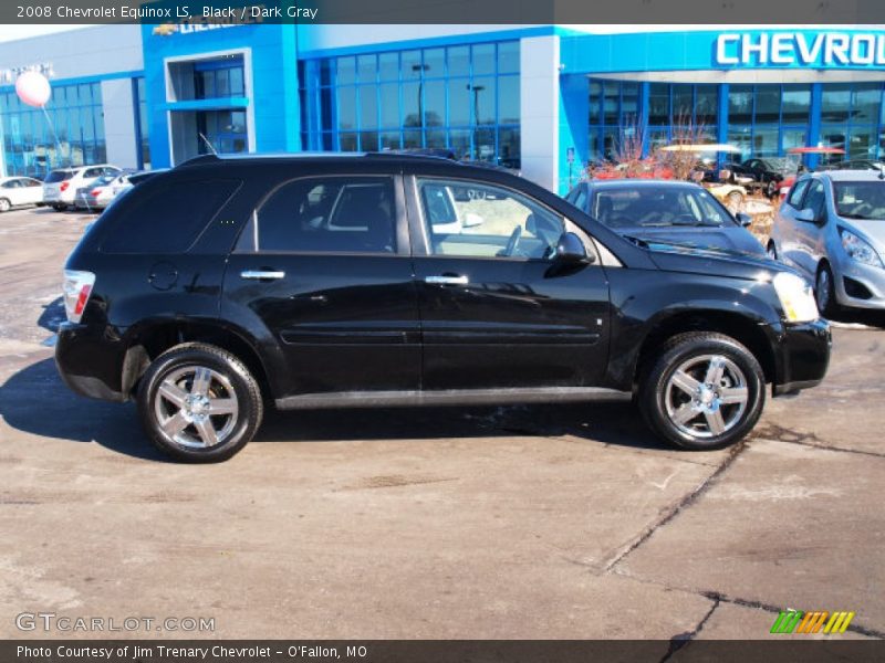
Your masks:
{"label": "blue and white Chevrolet dealership building with large glass windows", "polygon": [[[15,96],[30,69],[44,109]],[[884,84],[882,25],[98,25],[0,44],[0,160],[434,147],[562,192],[625,137],[686,127],[743,158],[885,157]]]}

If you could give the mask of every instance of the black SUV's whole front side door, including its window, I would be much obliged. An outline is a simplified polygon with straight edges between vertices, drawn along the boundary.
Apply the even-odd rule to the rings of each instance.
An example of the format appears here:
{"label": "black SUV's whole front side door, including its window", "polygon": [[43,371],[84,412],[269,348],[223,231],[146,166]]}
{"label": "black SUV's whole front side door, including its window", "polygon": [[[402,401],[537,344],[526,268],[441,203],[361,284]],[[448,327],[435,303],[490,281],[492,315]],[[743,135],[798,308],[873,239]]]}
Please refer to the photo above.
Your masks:
{"label": "black SUV's whole front side door, including its window", "polygon": [[[424,388],[597,385],[608,284],[601,266],[552,260],[565,220],[499,185],[418,177],[409,188]],[[434,196],[460,230],[438,232]]]}

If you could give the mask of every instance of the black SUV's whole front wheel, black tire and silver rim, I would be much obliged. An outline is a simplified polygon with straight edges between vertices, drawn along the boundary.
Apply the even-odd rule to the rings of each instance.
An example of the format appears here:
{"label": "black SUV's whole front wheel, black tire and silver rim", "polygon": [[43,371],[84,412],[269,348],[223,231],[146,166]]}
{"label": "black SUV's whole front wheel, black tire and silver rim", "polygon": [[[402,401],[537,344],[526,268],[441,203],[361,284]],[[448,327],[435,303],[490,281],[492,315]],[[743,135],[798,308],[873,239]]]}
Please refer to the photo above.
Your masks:
{"label": "black SUV's whole front wheel, black tire and silver rim", "polygon": [[[675,385],[675,376],[693,361],[698,362],[704,377],[709,376],[702,370],[705,357],[711,358],[708,370],[714,364],[712,358],[719,358],[716,359],[717,366],[721,366],[721,358],[725,358],[720,383],[714,389],[698,391],[697,397],[689,397]],[[722,449],[745,438],[759,421],[766,403],[762,367],[750,350],[729,336],[711,332],[679,334],[664,344],[647,367],[639,380],[639,409],[648,427],[670,444],[695,451]],[[686,370],[681,375],[691,377]],[[697,377],[701,378],[700,375]],[[706,388],[702,379],[696,381],[699,388]],[[742,406],[738,402],[720,404],[720,394],[722,398],[739,398],[737,394],[741,389],[746,389]],[[709,402],[704,400],[708,397]],[[676,402],[677,399],[684,402]],[[671,417],[678,418],[683,407],[688,408],[685,411],[689,414],[697,410],[697,414],[678,424]],[[711,421],[721,422],[721,427],[717,425],[721,432],[717,432]]]}

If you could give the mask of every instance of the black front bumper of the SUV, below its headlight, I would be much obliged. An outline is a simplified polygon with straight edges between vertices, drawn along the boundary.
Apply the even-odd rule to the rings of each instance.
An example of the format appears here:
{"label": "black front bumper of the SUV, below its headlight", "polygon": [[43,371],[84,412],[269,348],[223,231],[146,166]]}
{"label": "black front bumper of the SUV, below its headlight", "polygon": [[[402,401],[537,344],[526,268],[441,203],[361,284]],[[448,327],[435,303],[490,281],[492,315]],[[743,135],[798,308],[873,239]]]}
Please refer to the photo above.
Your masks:
{"label": "black front bumper of the SUV, below its headlight", "polygon": [[826,320],[784,323],[774,329],[775,380],[772,396],[796,393],[821,383],[830,366],[832,335]]}

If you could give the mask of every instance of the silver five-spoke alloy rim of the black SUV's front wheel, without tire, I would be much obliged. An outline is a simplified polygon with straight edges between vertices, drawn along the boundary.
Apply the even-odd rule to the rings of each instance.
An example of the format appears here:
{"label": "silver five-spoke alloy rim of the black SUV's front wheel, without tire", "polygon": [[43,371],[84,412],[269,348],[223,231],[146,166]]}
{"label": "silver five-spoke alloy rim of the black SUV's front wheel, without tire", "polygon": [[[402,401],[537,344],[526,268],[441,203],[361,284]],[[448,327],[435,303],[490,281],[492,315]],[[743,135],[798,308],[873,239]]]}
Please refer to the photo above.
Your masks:
{"label": "silver five-spoke alloy rim of the black SUV's front wheel, without tire", "polygon": [[725,355],[684,361],[664,391],[667,417],[691,438],[717,438],[740,422],[750,393],[743,371]]}

